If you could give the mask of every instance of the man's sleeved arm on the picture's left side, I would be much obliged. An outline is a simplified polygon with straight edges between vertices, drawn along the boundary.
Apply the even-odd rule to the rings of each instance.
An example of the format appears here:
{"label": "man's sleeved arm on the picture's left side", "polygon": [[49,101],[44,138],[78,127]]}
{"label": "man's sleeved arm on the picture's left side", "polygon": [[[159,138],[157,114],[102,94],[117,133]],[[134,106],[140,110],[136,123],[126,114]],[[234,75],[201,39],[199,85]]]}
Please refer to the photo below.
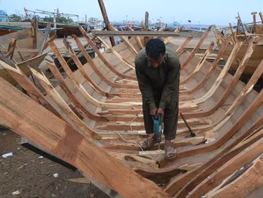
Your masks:
{"label": "man's sleeved arm on the picture's left side", "polygon": [[150,109],[157,108],[155,105],[155,98],[152,93],[152,87],[150,86],[150,80],[137,61],[135,61],[135,71],[142,97],[146,103],[150,105]]}

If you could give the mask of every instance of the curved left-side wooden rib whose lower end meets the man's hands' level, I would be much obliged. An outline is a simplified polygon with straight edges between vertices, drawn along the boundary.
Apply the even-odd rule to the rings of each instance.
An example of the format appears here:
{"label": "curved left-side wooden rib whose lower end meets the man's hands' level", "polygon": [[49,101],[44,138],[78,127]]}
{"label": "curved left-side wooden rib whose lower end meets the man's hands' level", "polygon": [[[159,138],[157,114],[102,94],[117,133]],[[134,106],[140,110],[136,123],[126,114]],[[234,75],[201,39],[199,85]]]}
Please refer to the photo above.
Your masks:
{"label": "curved left-side wooden rib whose lower end meets the man's hands' level", "polygon": [[65,59],[62,57],[62,55],[60,54],[60,51],[58,50],[58,47],[56,47],[56,45],[54,44],[54,42],[49,42],[49,46],[52,48],[52,51],[54,52],[54,54],[56,55],[56,57],[58,58],[58,61],[60,63],[60,65],[63,67],[63,69],[65,70],[65,72],[67,73],[67,76],[69,76],[69,79],[71,80],[71,82],[73,83],[73,85],[78,89],[78,91],[80,91],[80,93],[84,96],[84,98],[88,101],[91,102],[91,104],[93,104],[95,107],[101,107],[101,108],[122,108],[122,109],[133,109],[133,108],[137,108],[137,107],[141,107],[141,104],[115,104],[115,103],[111,103],[111,104],[107,104],[105,102],[100,102],[98,100],[95,100],[95,98],[93,98],[85,89],[84,87],[78,83],[78,81],[76,80],[76,78],[73,75],[73,72],[71,72],[71,69],[69,69],[69,67],[67,67],[67,63],[65,61]]}

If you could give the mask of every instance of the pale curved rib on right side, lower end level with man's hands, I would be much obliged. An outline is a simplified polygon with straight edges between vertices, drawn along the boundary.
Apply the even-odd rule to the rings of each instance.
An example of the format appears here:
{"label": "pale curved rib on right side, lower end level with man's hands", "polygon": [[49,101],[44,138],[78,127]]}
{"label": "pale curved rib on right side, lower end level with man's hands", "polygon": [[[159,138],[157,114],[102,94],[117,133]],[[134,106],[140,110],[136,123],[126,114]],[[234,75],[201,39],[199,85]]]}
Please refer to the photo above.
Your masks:
{"label": "pale curved rib on right side, lower end level with man's hands", "polygon": [[241,45],[242,45],[242,42],[236,43],[236,45],[233,47],[233,50],[229,58],[227,59],[227,63],[223,67],[218,78],[216,78],[216,81],[214,82],[214,84],[211,86],[211,88],[207,91],[207,93],[204,96],[194,100],[194,103],[200,104],[201,102],[205,102],[205,100],[208,100],[216,92],[216,89],[218,89],[218,87],[222,83],[222,80],[224,80],[225,76],[227,76],[228,74],[227,72],[229,71],[233,61],[236,59],[236,56],[238,55]]}

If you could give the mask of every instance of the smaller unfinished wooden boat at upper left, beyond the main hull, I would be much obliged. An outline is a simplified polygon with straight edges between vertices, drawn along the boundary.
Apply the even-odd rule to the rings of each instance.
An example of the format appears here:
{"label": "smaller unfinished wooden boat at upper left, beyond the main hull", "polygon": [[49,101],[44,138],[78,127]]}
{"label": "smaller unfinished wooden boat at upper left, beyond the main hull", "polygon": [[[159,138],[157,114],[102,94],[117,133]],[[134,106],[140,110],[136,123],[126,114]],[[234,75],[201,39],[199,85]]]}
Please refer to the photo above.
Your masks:
{"label": "smaller unfinished wooden boat at upper left, beyond the main hull", "polygon": [[[12,58],[21,71],[26,76],[30,76],[32,72],[27,65],[31,64],[34,68],[38,68],[49,52],[48,45],[45,45],[47,36],[48,34],[44,34],[33,26],[0,36],[0,52]],[[16,80],[1,65],[0,76],[12,85],[17,85]]]}

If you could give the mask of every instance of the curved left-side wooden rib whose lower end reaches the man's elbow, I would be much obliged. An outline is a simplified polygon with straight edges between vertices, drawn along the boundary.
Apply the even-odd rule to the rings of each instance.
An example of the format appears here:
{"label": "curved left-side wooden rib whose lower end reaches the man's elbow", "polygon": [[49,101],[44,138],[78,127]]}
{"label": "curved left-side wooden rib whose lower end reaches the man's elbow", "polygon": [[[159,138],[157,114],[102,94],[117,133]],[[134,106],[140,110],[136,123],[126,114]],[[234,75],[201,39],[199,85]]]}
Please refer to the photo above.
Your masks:
{"label": "curved left-side wooden rib whose lower end reaches the man's elbow", "polygon": [[138,85],[125,85],[125,84],[119,84],[119,83],[113,83],[110,80],[108,80],[108,78],[106,78],[101,72],[100,69],[98,69],[98,67],[95,65],[94,61],[92,60],[91,56],[89,56],[89,54],[86,52],[86,50],[84,49],[84,47],[82,46],[80,40],[78,39],[78,37],[76,35],[72,35],[73,39],[76,41],[76,44],[78,45],[80,51],[82,52],[83,56],[86,58],[86,60],[88,61],[89,65],[91,66],[91,68],[94,70],[94,72],[108,85],[110,85],[111,87],[121,87],[121,88],[125,88],[125,89],[138,89]]}

